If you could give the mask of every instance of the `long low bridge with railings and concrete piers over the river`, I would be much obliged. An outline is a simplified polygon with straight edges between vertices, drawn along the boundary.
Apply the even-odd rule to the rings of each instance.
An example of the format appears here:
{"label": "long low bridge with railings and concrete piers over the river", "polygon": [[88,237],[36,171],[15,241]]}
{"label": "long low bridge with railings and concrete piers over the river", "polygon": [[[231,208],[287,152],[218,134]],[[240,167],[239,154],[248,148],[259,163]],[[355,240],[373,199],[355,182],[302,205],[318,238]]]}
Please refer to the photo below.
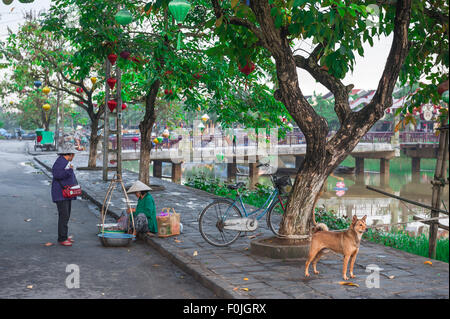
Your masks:
{"label": "long low bridge with railings and concrete piers over the river", "polygon": [[[331,135],[329,136],[331,137]],[[400,155],[400,151],[412,158],[413,179],[419,178],[420,159],[435,158],[437,155],[439,137],[432,132],[369,132],[350,153],[355,158],[357,178],[364,173],[364,159],[380,160],[381,183],[389,181],[389,160]],[[110,148],[116,148],[116,141],[110,138]],[[265,143],[264,143],[265,144]],[[260,144],[261,145],[261,144]],[[133,137],[122,138],[122,160],[139,160],[140,139]],[[236,165],[246,163],[249,165],[250,184],[254,185],[259,176],[256,167],[257,159],[261,156],[276,155],[295,157],[295,168],[282,168],[278,165],[278,173],[294,174],[306,154],[306,140],[301,132],[287,133],[276,144],[258,148],[256,138],[248,135],[239,136],[236,144],[227,136],[204,134],[199,137],[166,139],[151,150],[150,158],[153,161],[153,175],[162,177],[162,163],[172,164],[172,181],[181,181],[181,164],[186,161],[226,163],[228,179],[236,177]]]}

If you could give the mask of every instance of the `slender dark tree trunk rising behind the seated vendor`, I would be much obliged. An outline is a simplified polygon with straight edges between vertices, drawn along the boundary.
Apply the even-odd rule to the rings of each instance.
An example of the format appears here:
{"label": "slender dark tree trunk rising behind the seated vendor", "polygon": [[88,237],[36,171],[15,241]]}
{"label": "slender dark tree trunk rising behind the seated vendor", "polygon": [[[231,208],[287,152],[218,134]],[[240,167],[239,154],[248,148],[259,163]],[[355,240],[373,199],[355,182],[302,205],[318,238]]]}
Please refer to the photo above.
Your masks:
{"label": "slender dark tree trunk rising behind the seated vendor", "polygon": [[144,119],[139,123],[141,132],[141,148],[139,154],[139,180],[150,185],[150,151],[152,145],[152,128],[156,121],[155,102],[160,87],[160,81],[153,82],[145,97]]}

